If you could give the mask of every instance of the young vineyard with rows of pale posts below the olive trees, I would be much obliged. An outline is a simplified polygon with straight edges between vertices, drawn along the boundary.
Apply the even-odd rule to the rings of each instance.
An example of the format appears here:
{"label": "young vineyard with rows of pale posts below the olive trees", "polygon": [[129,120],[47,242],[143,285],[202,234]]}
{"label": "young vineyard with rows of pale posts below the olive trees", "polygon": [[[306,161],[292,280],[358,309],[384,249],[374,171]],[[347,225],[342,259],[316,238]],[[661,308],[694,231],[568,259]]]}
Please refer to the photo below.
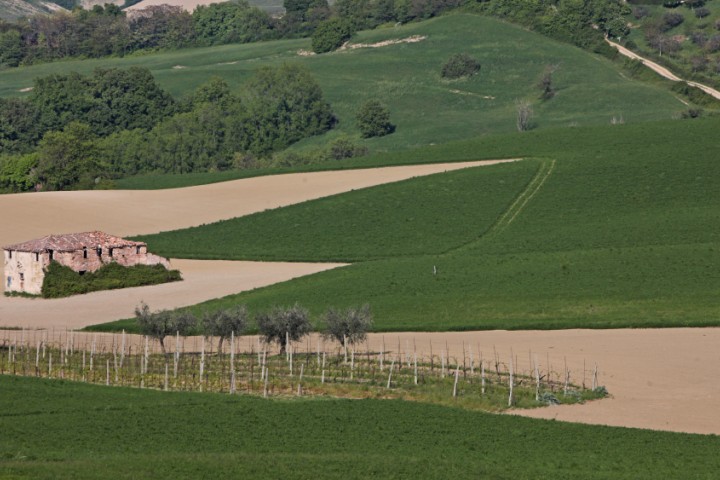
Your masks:
{"label": "young vineyard with rows of pale posts below the olive trees", "polygon": [[[148,337],[123,333],[5,330],[0,333],[0,374],[64,379],[107,386],[166,391],[223,392],[265,397],[331,395],[349,398],[405,398],[500,410],[577,403],[601,398],[596,364],[572,372],[564,362],[552,369],[528,352],[503,358],[494,347],[463,343],[453,355],[447,343],[426,355],[399,338],[397,345],[327,342],[317,335],[291,342],[280,354],[257,336],[226,340],[166,339],[167,352]],[[168,341],[171,340],[171,341]],[[575,377],[573,377],[575,375]]]}

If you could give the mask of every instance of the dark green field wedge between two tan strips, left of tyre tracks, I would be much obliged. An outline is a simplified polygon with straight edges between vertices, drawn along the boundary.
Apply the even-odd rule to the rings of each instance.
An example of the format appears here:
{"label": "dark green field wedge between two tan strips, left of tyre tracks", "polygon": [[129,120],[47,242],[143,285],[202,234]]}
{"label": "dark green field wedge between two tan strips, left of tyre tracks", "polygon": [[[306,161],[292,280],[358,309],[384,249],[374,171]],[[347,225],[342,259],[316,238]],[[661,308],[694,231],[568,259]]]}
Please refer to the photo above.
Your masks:
{"label": "dark green field wedge between two tan strips, left of tyre tracks", "polygon": [[538,163],[431,175],[138,238],[172,258],[354,262],[442,253],[490,229]]}

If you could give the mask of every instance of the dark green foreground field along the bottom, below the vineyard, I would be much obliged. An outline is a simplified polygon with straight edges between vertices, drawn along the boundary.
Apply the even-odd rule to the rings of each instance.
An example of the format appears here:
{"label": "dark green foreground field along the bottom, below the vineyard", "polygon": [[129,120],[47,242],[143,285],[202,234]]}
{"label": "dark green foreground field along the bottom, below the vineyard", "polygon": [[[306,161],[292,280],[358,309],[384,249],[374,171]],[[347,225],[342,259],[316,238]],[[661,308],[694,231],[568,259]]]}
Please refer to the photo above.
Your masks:
{"label": "dark green foreground field along the bottom, below the vineyard", "polygon": [[4,478],[709,479],[720,467],[715,436],[402,401],[164,394],[17,377],[0,377],[0,388]]}

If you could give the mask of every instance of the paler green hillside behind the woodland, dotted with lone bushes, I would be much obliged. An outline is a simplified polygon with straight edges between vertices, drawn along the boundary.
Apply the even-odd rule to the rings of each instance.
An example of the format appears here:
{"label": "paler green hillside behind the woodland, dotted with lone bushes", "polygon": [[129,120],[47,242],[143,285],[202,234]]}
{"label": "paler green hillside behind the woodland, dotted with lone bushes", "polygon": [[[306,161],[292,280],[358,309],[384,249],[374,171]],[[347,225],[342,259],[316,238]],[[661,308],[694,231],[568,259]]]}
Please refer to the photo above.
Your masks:
{"label": "paler green hillside behind the woodland, dotted with lone bushes", "polygon": [[[149,68],[164,88],[183,95],[214,75],[239,87],[262,65],[297,62],[318,78],[340,124],[296,148],[326,143],[342,133],[357,135],[355,112],[363,102],[376,98],[389,106],[398,129],[393,135],[365,141],[375,152],[513,131],[515,101],[520,98],[534,101],[538,128],[602,124],[613,116],[627,122],[668,119],[686,109],[663,87],[624,78],[606,59],[494,19],[450,15],[362,32],[355,41],[410,35],[427,39],[311,57],[297,55],[299,49],[310,46],[308,39],[302,39],[37,65],[0,72],[0,96],[20,95],[36,76],[130,65]],[[440,66],[456,52],[477,57],[482,63],[480,74],[463,81],[442,80]],[[536,101],[536,84],[549,64],[559,65],[554,76],[558,92],[551,101],[541,103]]]}

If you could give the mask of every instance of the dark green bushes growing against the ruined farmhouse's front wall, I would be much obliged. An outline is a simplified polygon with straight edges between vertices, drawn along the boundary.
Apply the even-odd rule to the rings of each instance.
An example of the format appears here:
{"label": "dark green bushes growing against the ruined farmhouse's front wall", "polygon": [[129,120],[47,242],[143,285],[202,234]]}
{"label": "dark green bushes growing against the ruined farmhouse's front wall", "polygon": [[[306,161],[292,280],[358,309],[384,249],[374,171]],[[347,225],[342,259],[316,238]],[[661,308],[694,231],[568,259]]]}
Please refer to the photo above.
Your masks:
{"label": "dark green bushes growing against the ruined farmhouse's front wall", "polygon": [[42,285],[43,298],[60,298],[98,290],[139,287],[182,280],[180,272],[162,265],[136,265],[123,267],[108,263],[95,272],[80,275],[70,267],[51,262]]}

